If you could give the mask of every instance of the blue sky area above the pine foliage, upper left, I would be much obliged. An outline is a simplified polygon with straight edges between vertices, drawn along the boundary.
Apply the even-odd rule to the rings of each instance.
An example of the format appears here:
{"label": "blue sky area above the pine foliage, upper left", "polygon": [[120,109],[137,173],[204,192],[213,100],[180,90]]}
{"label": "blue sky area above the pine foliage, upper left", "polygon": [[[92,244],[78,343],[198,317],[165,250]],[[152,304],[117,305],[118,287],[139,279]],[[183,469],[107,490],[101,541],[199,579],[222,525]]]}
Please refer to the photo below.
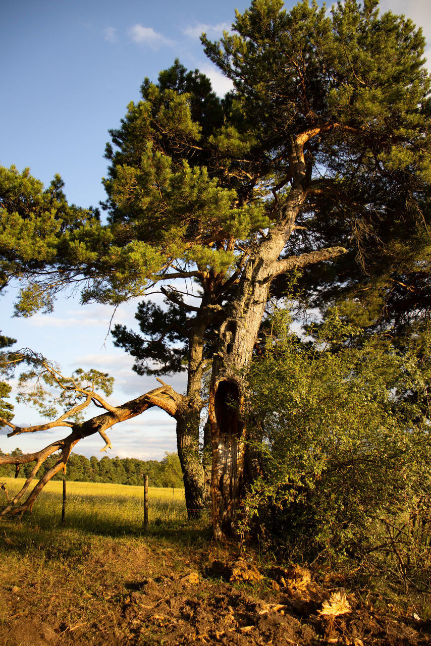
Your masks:
{"label": "blue sky area above the pine foliage, upper left", "polygon": [[[59,172],[69,200],[80,205],[104,197],[107,130],[139,98],[143,78],[156,80],[176,56],[187,68],[207,70],[202,29],[221,36],[234,19],[231,0],[2,4],[0,161],[30,166],[45,183]],[[213,76],[226,90],[226,79]]]}

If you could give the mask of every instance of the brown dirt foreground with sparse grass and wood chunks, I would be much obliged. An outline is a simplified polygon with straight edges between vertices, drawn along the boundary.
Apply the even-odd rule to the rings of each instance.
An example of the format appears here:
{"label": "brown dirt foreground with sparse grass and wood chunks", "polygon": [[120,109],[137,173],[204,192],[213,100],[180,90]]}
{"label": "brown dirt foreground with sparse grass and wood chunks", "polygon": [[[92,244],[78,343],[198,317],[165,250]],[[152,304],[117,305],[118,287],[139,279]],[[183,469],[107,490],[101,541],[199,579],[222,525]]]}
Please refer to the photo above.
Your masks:
{"label": "brown dirt foreground with sparse grass and wood chunks", "polygon": [[[330,578],[182,537],[0,526],[0,646],[419,646],[431,623]],[[233,580],[231,580],[233,579]]]}

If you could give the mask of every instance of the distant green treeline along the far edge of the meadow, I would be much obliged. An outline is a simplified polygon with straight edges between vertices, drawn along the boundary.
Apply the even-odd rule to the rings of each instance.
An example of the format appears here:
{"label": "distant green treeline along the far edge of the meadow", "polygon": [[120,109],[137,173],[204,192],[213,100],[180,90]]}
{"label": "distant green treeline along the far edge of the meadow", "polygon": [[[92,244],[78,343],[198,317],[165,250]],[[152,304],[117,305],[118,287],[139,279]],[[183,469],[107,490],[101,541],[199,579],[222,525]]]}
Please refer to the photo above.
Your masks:
{"label": "distant green treeline along the far edge of the meadow", "polygon": [[[0,455],[6,455],[0,449]],[[21,449],[16,448],[10,455],[22,455]],[[56,463],[55,454],[39,468],[38,478],[43,475]],[[19,469],[19,477],[27,477],[30,474],[34,463],[23,464]],[[14,477],[16,466],[8,464],[0,469],[1,477]],[[67,480],[89,483],[116,483],[117,485],[138,485],[143,486],[143,476],[148,475],[150,486],[182,487],[183,479],[181,474],[180,460],[176,453],[165,453],[161,462],[157,460],[138,460],[136,457],[114,457],[107,455],[98,460],[97,457],[85,457],[78,453],[70,453],[67,462]],[[54,476],[55,480],[64,477],[63,472]]]}

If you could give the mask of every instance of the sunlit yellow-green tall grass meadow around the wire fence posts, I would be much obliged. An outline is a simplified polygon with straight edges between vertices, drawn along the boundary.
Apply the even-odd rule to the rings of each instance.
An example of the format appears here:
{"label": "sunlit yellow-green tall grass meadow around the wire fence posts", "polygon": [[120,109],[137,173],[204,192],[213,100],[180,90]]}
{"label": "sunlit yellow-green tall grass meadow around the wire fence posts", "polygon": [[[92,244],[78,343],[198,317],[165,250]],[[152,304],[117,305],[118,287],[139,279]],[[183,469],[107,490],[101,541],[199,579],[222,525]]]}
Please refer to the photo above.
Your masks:
{"label": "sunlit yellow-green tall grass meadow around the wire fence posts", "polygon": [[[10,498],[25,482],[22,478],[2,478],[1,481],[5,482]],[[28,522],[43,527],[59,526],[62,491],[61,481],[50,481],[37,497]],[[186,521],[183,489],[149,487],[148,500],[149,531]],[[6,494],[0,491],[0,505],[3,503],[6,503]],[[140,534],[143,531],[143,487],[67,482],[64,526],[111,536]]]}

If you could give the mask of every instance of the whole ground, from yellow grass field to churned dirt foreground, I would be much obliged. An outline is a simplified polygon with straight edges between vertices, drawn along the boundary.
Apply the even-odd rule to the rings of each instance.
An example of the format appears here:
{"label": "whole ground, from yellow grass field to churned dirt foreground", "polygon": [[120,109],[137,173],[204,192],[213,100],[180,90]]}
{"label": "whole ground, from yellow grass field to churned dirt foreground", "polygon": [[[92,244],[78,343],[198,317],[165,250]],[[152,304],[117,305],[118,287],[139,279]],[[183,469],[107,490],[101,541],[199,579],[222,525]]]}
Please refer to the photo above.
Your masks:
{"label": "whole ground, from yellow grass field to churned dirt foreground", "polygon": [[[0,482],[9,495],[23,485]],[[0,490],[0,506],[5,498]],[[340,582],[349,586],[316,570],[310,590],[319,603],[302,590],[297,607],[286,582],[280,589],[273,580],[279,570],[288,576],[287,564],[215,543],[209,516],[187,521],[180,489],[150,488],[147,531],[143,487],[68,482],[64,525],[61,498],[61,481],[48,483],[32,515],[0,519],[0,646],[316,646],[328,629],[319,604]],[[230,583],[239,556],[262,578]],[[369,592],[357,594],[358,610],[331,625],[332,642],[429,643],[431,622],[412,619],[425,611],[411,599],[388,618],[383,599],[379,615],[376,594],[373,605]]]}

